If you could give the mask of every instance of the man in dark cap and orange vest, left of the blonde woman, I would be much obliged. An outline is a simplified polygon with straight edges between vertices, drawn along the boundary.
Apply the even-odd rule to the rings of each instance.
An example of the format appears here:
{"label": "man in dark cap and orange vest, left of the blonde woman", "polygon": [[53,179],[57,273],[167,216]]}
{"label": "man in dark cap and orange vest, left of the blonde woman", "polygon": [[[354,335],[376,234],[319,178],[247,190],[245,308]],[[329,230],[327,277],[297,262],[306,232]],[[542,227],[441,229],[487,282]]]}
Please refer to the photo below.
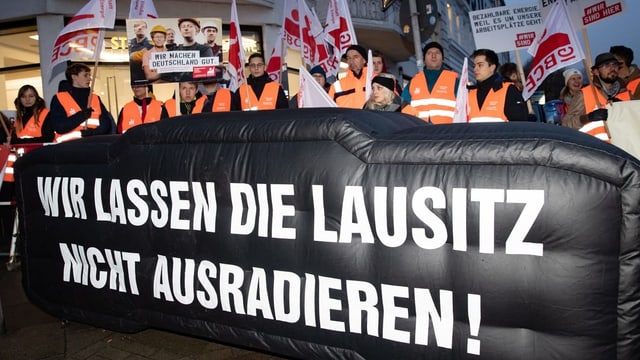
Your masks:
{"label": "man in dark cap and orange vest, left of the blonde woman", "polygon": [[338,107],[362,109],[367,100],[367,51],[360,45],[351,45],[347,48],[346,58],[349,65],[347,76],[331,84],[329,97]]}

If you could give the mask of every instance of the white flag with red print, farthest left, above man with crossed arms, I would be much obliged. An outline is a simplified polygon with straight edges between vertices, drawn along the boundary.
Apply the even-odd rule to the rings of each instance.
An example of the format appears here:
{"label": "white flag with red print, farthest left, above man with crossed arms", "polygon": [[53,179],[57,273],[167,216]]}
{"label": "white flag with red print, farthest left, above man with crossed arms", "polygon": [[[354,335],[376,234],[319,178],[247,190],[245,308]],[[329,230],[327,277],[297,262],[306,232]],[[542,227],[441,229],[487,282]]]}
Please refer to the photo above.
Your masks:
{"label": "white flag with red print, farthest left, above man with crossed arms", "polygon": [[91,0],[80,9],[56,38],[46,67],[47,77],[61,62],[77,58],[99,59],[104,46],[104,31],[100,29],[112,29],[115,21],[115,0]]}

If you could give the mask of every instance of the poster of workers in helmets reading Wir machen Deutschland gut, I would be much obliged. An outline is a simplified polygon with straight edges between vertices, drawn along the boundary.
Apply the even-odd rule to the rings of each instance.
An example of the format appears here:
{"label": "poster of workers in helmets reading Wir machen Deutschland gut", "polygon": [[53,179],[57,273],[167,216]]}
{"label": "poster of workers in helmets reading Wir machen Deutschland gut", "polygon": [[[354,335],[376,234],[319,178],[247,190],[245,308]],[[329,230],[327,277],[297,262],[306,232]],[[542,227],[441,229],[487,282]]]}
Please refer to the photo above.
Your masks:
{"label": "poster of workers in helmets reading Wir machen Deutschland gut", "polygon": [[131,84],[222,78],[222,19],[127,19]]}

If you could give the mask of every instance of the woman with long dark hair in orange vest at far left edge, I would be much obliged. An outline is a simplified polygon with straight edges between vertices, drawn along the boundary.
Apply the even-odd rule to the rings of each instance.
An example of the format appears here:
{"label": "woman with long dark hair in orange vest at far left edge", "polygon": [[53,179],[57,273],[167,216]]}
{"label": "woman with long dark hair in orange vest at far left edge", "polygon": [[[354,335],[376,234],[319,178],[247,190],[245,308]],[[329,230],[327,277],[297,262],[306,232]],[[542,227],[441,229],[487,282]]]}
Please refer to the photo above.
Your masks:
{"label": "woman with long dark hair in orange vest at far left edge", "polygon": [[15,130],[11,135],[12,144],[43,143],[53,140],[52,132],[45,131],[45,134],[42,132],[49,109],[35,87],[22,86],[13,103],[16,106],[16,119]]}

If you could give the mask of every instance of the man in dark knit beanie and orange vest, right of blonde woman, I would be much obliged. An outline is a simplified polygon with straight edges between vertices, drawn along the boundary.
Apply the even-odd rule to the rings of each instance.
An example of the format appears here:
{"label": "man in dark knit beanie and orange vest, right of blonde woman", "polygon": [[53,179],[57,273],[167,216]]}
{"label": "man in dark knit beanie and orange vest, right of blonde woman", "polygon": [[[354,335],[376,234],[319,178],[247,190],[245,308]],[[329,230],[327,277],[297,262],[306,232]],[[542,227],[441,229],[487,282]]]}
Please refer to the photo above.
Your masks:
{"label": "man in dark knit beanie and orange vest, right of blonde woman", "polygon": [[[433,124],[450,124],[456,108],[458,73],[443,68],[444,50],[432,41],[422,49],[424,71],[417,73],[402,91],[402,99],[417,116]],[[466,84],[465,84],[466,85]],[[407,113],[406,110],[403,112]]]}

